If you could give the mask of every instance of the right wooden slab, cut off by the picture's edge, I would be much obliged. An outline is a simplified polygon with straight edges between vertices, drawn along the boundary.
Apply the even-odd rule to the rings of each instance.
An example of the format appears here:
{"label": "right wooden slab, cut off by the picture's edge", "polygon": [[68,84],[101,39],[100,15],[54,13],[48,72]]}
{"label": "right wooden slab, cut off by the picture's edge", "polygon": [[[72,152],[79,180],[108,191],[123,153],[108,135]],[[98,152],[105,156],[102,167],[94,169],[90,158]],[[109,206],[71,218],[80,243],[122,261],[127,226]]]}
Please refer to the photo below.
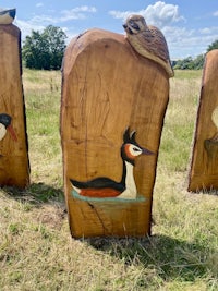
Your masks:
{"label": "right wooden slab, cut off by the picture's edge", "polygon": [[218,189],[218,50],[207,53],[192,149],[189,191]]}

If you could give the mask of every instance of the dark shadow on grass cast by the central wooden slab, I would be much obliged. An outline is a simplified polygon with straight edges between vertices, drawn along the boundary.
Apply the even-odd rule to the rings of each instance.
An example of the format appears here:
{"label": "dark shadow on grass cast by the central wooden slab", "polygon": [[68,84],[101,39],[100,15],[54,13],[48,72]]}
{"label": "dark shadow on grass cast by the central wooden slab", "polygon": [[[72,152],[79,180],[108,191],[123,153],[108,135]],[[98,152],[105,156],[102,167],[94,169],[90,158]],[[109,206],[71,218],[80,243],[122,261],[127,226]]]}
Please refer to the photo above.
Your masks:
{"label": "dark shadow on grass cast by the central wooden slab", "polygon": [[[207,246],[160,234],[144,239],[88,239],[86,242],[121,259],[128,266],[143,267],[146,278],[141,278],[138,283],[142,287],[147,287],[152,277],[159,278],[160,281],[190,282],[206,278],[209,270],[208,254],[215,253],[215,250]],[[216,274],[214,278],[217,280]]]}

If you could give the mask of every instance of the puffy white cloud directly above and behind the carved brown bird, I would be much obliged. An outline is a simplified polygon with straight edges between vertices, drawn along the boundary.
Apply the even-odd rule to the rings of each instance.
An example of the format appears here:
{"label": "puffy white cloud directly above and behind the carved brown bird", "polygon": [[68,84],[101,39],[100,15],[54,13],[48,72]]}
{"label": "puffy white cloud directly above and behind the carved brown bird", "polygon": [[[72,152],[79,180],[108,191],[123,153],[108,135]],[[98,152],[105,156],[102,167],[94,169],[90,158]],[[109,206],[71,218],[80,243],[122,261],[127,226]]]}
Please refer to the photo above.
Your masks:
{"label": "puffy white cloud directly above and behind the carved brown bird", "polygon": [[109,11],[109,14],[116,19],[122,19],[123,21],[130,14],[141,14],[148,24],[156,25],[159,28],[185,20],[180,15],[178,5],[166,4],[162,1],[158,1],[154,5],[148,5],[146,9],[140,11]]}

